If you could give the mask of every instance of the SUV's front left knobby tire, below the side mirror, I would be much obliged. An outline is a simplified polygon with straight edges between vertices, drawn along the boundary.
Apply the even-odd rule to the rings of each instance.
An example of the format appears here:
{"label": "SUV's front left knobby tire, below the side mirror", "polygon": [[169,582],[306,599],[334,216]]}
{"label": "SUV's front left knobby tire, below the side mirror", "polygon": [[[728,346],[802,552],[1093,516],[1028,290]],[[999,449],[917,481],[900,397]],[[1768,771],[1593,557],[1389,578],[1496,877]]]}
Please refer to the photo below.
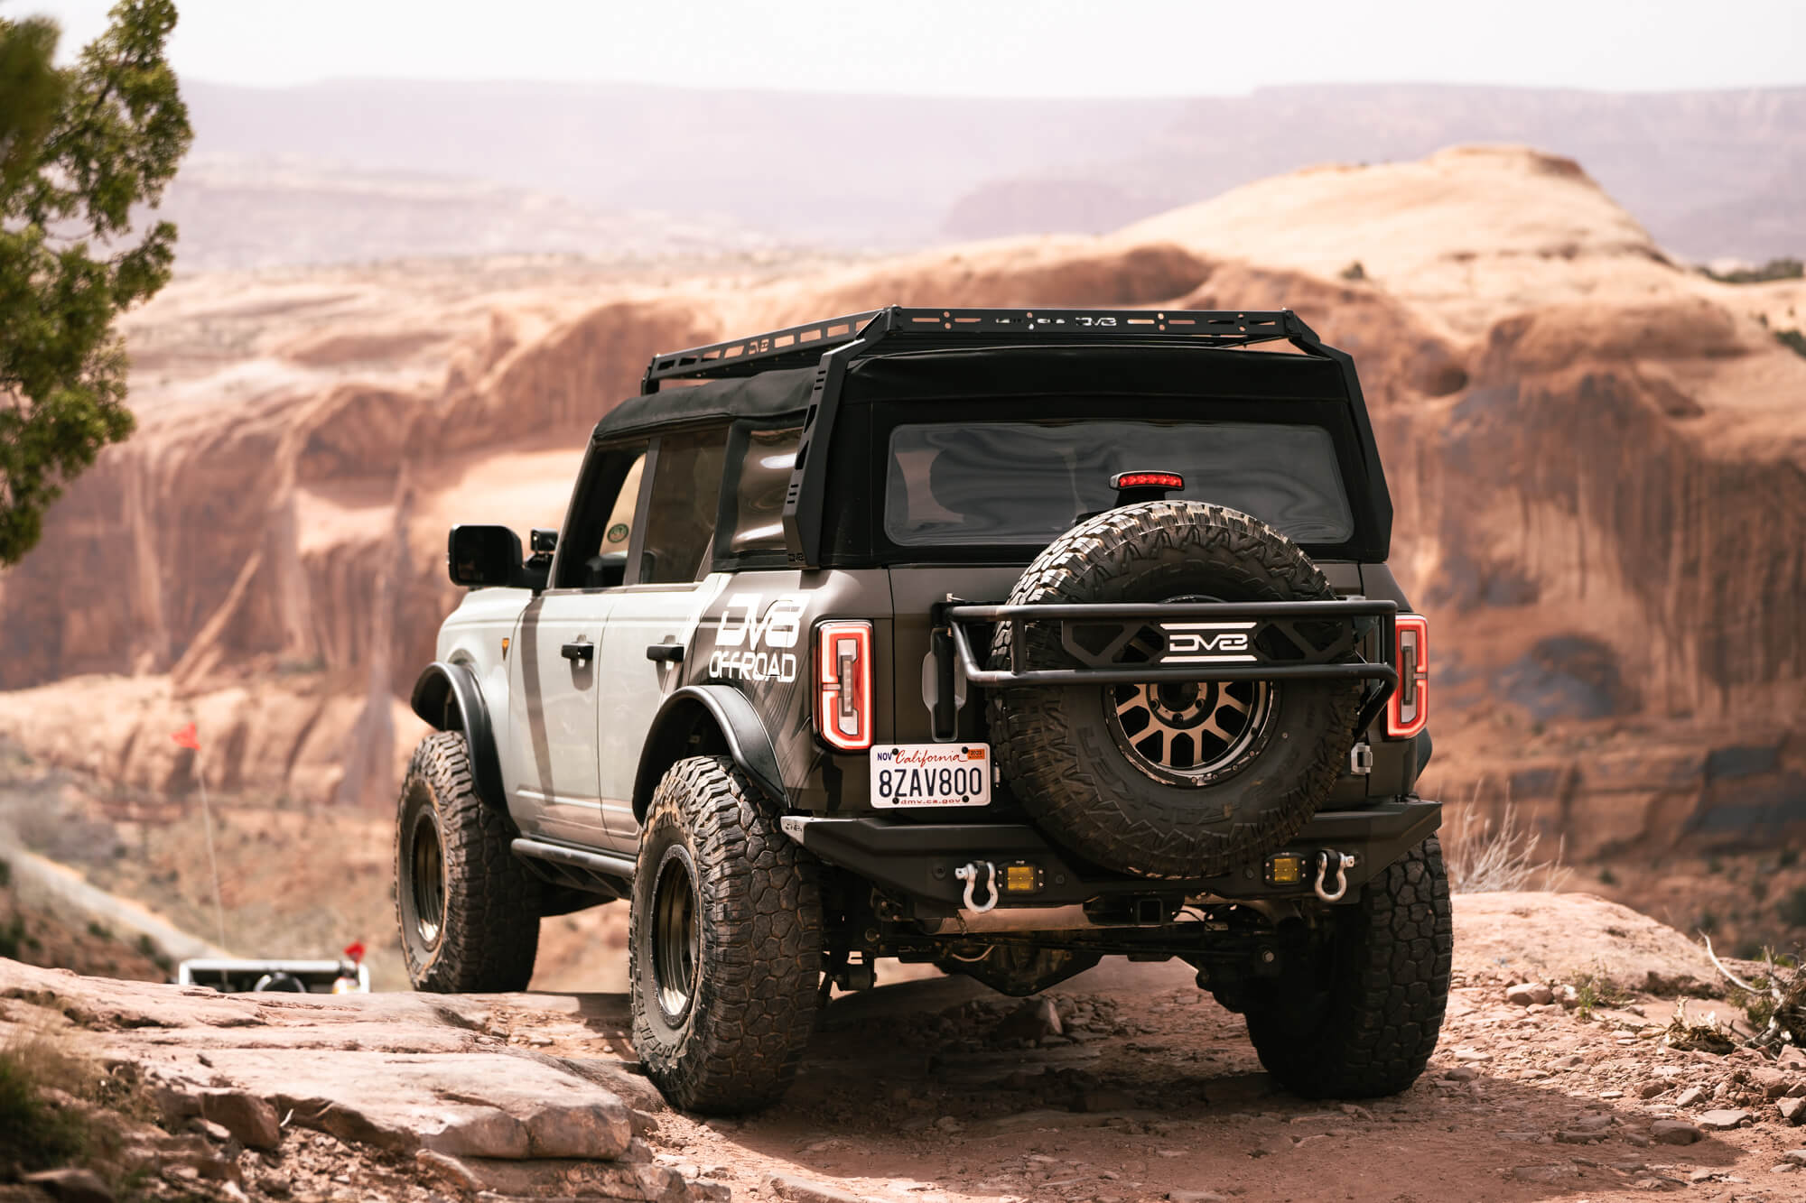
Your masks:
{"label": "SUV's front left knobby tire, below the side mirror", "polygon": [[414,750],[396,815],[396,919],[415,990],[526,990],[542,887],[509,849],[507,815],[477,797],[459,732]]}

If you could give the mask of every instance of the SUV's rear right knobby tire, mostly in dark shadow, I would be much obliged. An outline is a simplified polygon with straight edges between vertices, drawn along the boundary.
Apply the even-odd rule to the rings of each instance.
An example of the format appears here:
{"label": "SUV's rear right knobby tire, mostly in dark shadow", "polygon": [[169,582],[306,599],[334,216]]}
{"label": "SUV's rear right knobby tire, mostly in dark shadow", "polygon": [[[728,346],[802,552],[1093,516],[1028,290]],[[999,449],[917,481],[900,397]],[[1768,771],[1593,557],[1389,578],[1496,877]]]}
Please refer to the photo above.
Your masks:
{"label": "SUV's rear right knobby tire, mostly in dark shadow", "polygon": [[1396,1095],[1418,1080],[1448,1006],[1454,919],[1443,845],[1430,836],[1333,907],[1309,979],[1259,983],[1248,1037],[1261,1064],[1304,1098]]}

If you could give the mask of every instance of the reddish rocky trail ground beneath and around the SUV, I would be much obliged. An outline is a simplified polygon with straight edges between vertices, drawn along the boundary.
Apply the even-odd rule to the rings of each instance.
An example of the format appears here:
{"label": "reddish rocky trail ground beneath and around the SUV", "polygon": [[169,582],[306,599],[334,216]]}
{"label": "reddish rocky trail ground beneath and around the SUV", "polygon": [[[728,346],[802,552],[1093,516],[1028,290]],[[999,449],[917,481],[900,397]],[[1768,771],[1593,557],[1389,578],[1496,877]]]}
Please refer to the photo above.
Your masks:
{"label": "reddish rocky trail ground beneath and around the SUV", "polygon": [[[838,999],[786,1102],[744,1120],[661,1104],[621,995],[215,995],[0,961],[0,1044],[132,1066],[177,1133],[137,1145],[152,1189],[190,1198],[1806,1198],[1806,1055],[1662,1042],[1674,992],[1732,1015],[1680,934],[1503,894],[1457,900],[1457,941],[1430,1069],[1364,1104],[1277,1093],[1185,966],[1120,961],[1028,1004],[963,979]],[[1595,970],[1662,993],[1508,1001]]]}

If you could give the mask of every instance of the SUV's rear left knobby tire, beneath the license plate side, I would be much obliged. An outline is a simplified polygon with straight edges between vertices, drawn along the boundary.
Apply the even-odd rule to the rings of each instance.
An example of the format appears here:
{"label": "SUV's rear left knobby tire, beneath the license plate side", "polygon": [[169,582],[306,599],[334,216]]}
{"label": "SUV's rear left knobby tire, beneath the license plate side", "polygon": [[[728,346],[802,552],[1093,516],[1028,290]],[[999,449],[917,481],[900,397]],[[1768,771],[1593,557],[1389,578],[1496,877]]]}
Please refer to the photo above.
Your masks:
{"label": "SUV's rear left knobby tire, beneath the license plate side", "polygon": [[755,797],[726,757],[679,760],[639,836],[627,937],[634,1049],[684,1111],[777,1100],[815,1026],[816,863]]}

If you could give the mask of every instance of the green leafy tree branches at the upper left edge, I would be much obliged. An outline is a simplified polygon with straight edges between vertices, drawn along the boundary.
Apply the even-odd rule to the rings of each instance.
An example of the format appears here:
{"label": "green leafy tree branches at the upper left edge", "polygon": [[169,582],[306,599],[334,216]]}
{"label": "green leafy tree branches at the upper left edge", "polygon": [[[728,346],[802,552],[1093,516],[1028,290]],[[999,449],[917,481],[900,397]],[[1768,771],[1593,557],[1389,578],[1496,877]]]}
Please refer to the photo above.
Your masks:
{"label": "green leafy tree branches at the upper left edge", "polygon": [[56,25],[0,20],[0,565],[61,484],[132,434],[114,318],[155,294],[175,226],[132,229],[193,134],[163,56],[173,0],[121,0],[74,65]]}

